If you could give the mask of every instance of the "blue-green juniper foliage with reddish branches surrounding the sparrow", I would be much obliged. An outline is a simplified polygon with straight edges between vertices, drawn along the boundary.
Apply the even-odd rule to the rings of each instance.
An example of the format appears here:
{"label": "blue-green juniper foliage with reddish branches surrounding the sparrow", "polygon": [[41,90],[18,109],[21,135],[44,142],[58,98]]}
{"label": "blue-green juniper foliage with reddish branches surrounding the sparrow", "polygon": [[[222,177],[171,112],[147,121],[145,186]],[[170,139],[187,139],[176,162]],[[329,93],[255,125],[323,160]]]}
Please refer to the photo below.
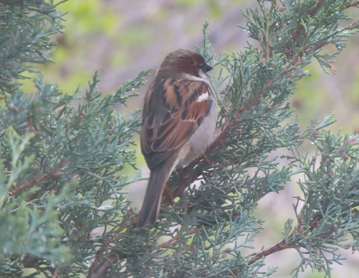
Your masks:
{"label": "blue-green juniper foliage with reddish branches surrounding the sparrow", "polygon": [[[95,73],[77,107],[78,90],[63,93],[40,76],[29,96],[18,79],[32,63],[50,60],[48,35],[61,31],[63,15],[52,1],[1,1],[1,277],[269,277],[276,268],[264,268],[265,256],[286,248],[301,257],[293,277],[307,267],[331,277],[331,264],[343,259],[339,247],[358,251],[359,138],[327,131],[334,115],[302,129],[288,99],[313,58],[334,70],[345,38],[359,30],[358,21],[338,25],[351,20],[345,11],[352,6],[358,2],[258,0],[242,11],[241,28],[261,48],[248,43],[217,59],[204,24],[197,50],[221,68],[209,77],[220,108],[207,153],[212,164],[198,159],[173,173],[176,202],[164,201],[153,227],[137,228],[122,191],[134,180],[121,170],[137,169],[131,146],[141,119],[139,111],[125,117],[112,107],[137,96],[132,89],[149,70],[107,96],[97,91]],[[328,44],[337,51],[322,55]],[[305,141],[314,156],[303,152]],[[290,153],[282,156],[285,167],[269,156],[280,148]],[[298,173],[303,196],[283,240],[243,255],[263,228],[256,204]]]}

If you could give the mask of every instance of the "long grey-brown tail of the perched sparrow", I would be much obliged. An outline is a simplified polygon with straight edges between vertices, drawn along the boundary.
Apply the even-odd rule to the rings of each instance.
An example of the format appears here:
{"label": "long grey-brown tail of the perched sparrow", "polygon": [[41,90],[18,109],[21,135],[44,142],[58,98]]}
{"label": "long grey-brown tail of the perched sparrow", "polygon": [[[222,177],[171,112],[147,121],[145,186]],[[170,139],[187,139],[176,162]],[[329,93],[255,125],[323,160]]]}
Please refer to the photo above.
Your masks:
{"label": "long grey-brown tail of the perched sparrow", "polygon": [[146,223],[153,225],[158,219],[163,190],[171,175],[169,171],[171,167],[166,162],[160,163],[151,170],[145,199],[139,213],[138,227],[143,227]]}

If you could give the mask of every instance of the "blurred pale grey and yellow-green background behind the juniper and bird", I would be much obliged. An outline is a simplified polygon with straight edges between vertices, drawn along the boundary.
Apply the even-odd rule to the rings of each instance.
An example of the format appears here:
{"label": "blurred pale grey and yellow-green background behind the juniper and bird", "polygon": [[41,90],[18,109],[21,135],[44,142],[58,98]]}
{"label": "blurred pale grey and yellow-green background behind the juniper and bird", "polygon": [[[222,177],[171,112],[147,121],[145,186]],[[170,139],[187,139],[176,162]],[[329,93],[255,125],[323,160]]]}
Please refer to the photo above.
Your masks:
{"label": "blurred pale grey and yellow-green background behind the juniper and bird", "polygon": [[[247,33],[237,27],[244,25],[240,9],[256,6],[255,1],[248,0],[69,0],[59,7],[68,12],[65,16],[65,33],[56,34],[53,39],[58,45],[53,52],[49,65],[38,67],[44,74],[44,80],[59,83],[64,92],[74,92],[80,84],[82,93],[88,87],[87,82],[95,70],[100,73],[99,89],[109,93],[120,87],[123,80],[134,78],[141,70],[154,68],[149,82],[153,80],[155,70],[165,54],[179,47],[195,48],[203,45],[202,24],[206,19],[210,25],[209,40],[215,53],[243,50],[250,43]],[[358,9],[348,13],[358,18]],[[344,25],[345,23],[342,23]],[[296,94],[292,97],[292,106],[302,120],[303,128],[312,118],[323,120],[326,115],[336,111],[337,122],[330,127],[332,132],[359,132],[359,34],[349,39],[349,47],[337,57],[333,65],[336,75],[325,74],[317,61],[307,66],[312,76],[303,78],[298,83]],[[327,47],[325,51],[333,52]],[[324,51],[324,52],[325,52]],[[219,72],[215,69],[214,74]],[[34,77],[36,74],[32,74]],[[118,111],[128,113],[136,107],[142,107],[143,96],[148,88],[139,89],[139,97],[132,98],[129,108],[115,107]],[[25,91],[32,92],[31,82],[24,83]],[[76,105],[76,104],[75,104]],[[137,140],[138,141],[138,140]],[[137,146],[138,148],[138,146]],[[139,148],[138,148],[139,149]],[[272,153],[275,157],[285,152]],[[138,152],[138,163],[142,175],[149,171]],[[279,160],[280,161],[280,160]],[[286,161],[280,161],[285,165]],[[129,167],[126,173],[135,173]],[[129,198],[134,200],[134,207],[140,207],[146,181],[141,181],[127,188]],[[281,229],[288,218],[295,218],[292,203],[293,196],[300,195],[295,180],[286,184],[286,189],[279,194],[268,194],[258,203],[256,215],[266,220],[265,230],[253,243],[255,249],[243,250],[245,254],[259,251],[281,240]],[[347,260],[343,265],[332,265],[332,277],[359,277],[359,255],[344,252]],[[283,250],[270,255],[268,266],[278,266],[273,277],[291,277],[290,271],[298,264],[299,256],[294,250]],[[324,277],[324,273],[312,272],[310,268],[300,277]]]}

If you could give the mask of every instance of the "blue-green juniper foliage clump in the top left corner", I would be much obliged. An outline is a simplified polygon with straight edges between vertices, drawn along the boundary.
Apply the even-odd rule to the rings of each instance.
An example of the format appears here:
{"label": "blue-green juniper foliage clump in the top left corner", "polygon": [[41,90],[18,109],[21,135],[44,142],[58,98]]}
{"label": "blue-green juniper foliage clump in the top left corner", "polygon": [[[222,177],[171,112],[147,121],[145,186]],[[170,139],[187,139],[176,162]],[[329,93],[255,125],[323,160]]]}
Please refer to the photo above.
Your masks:
{"label": "blue-green juniper foliage clump in the top left corner", "polygon": [[[62,1],[64,2],[64,1]],[[49,36],[62,32],[64,14],[47,1],[0,3],[0,91],[13,93],[17,80],[29,78],[34,64],[51,61],[55,42]],[[25,75],[24,75],[25,72]]]}

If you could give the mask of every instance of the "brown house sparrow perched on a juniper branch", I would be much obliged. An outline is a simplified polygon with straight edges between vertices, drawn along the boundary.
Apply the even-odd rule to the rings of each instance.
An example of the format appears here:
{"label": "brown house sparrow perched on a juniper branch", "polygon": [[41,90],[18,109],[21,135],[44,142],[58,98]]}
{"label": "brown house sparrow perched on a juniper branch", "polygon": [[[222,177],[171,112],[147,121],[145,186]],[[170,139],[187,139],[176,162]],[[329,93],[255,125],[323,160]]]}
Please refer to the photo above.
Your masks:
{"label": "brown house sparrow perched on a juniper branch", "polygon": [[151,173],[139,227],[158,219],[172,171],[202,156],[212,142],[218,110],[205,76],[211,69],[198,52],[177,49],[164,58],[145,95],[140,139]]}

